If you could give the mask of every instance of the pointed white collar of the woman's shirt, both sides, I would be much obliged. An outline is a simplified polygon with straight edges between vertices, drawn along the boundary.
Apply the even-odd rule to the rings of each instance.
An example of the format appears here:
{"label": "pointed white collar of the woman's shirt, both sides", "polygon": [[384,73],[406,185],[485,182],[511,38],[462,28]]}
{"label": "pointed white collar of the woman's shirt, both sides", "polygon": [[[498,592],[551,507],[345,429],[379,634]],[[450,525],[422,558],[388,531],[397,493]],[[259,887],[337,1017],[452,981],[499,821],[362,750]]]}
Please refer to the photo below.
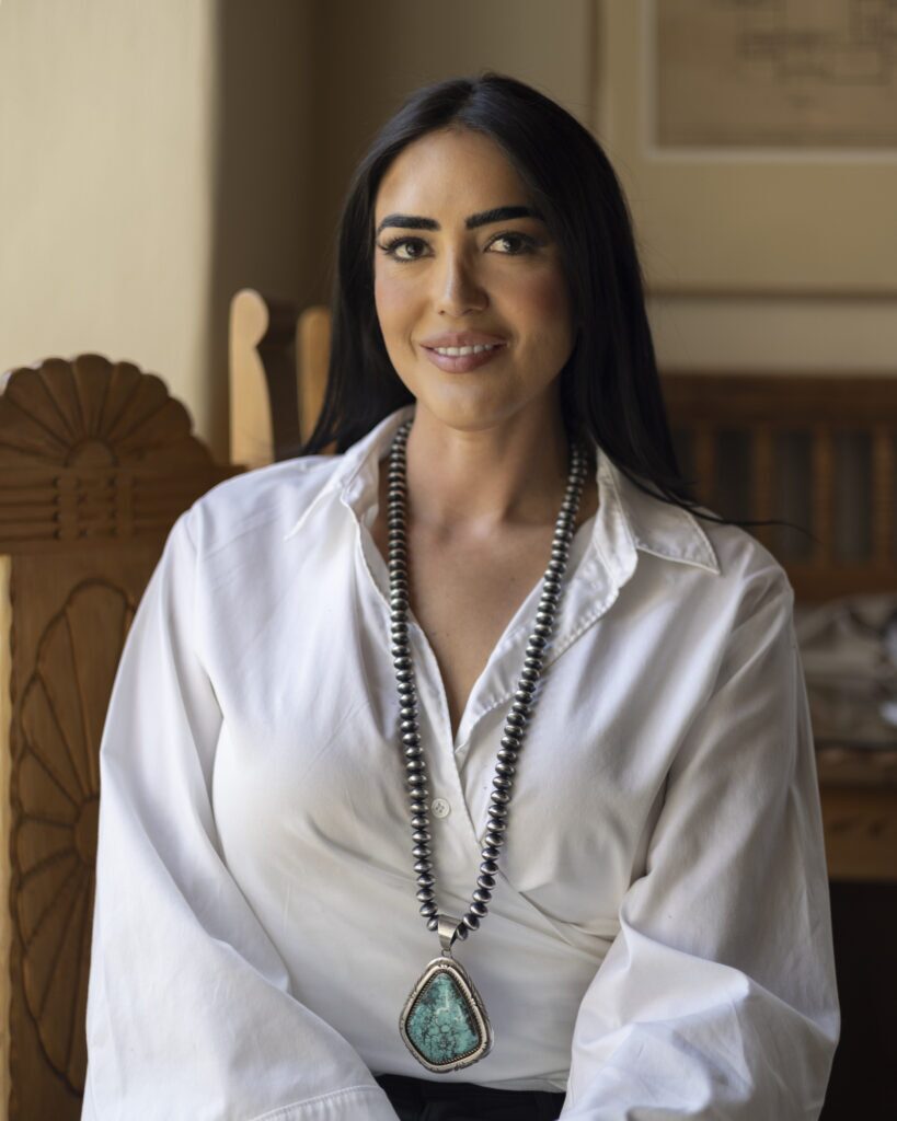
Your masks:
{"label": "pointed white collar of the woman's shirt, both sides", "polygon": [[[326,484],[284,540],[296,534],[326,495],[339,493],[344,506],[355,508],[368,490],[377,488],[379,460],[400,425],[414,416],[415,402],[390,413],[342,455]],[[619,586],[636,567],[637,553],[650,553],[676,564],[694,565],[720,574],[713,546],[694,515],[645,494],[595,445],[599,507],[592,545]]]}

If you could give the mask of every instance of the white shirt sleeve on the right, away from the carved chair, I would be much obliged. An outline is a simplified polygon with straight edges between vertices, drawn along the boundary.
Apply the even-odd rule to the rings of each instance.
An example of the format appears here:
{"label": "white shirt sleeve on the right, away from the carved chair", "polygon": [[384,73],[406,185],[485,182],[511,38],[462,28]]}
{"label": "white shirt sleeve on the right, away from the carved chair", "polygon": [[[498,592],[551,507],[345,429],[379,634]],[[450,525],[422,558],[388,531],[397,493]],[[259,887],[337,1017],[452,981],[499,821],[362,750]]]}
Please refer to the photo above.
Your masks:
{"label": "white shirt sleeve on the right, away from the carved chair", "polygon": [[840,1018],[793,602],[780,569],[745,587],[580,1006],[563,1121],[819,1117]]}

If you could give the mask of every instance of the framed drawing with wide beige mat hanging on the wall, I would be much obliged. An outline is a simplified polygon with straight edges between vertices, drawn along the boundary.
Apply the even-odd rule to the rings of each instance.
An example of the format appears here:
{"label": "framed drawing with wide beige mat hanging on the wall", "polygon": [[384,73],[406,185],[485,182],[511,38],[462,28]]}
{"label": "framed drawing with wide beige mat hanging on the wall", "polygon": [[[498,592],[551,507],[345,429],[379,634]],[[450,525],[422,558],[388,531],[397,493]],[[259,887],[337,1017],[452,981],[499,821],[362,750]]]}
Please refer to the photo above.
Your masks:
{"label": "framed drawing with wide beige mat hanging on the wall", "polygon": [[599,0],[654,294],[897,295],[897,2]]}

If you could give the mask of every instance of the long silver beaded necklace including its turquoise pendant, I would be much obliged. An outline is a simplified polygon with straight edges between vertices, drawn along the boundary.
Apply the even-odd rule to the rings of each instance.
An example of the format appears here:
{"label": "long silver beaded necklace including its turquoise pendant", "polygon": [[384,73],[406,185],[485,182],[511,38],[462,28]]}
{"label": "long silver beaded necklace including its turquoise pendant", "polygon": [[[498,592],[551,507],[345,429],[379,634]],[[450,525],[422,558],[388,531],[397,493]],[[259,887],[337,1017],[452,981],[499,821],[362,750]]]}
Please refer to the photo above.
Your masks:
{"label": "long silver beaded necklace including its turquoise pendant", "polygon": [[427,929],[438,935],[442,953],[427,964],[411,989],[399,1017],[399,1031],[405,1046],[423,1066],[437,1074],[444,1074],[478,1063],[492,1049],[492,1026],[482,998],[466,970],[452,956],[452,946],[456,939],[463,942],[471,930],[479,929],[480,920],[486,918],[489,911],[489,901],[498,873],[499,853],[505,844],[508,826],[517,757],[542,673],[545,648],[554,628],[557,604],[561,600],[561,583],[570,556],[570,545],[588,469],[583,450],[574,444],[571,450],[567,488],[555,524],[552,558],[542,581],[542,597],[536,611],[536,623],[527,642],[524,668],[505,724],[505,734],[501,736],[477,889],[466,912],[459,920],[450,915],[440,914],[435,902],[427,807],[429,789],[417,724],[417,691],[408,639],[405,453],[410,427],[411,419],[406,420],[396,432],[390,447],[389,604],[392,659],[399,694],[399,730],[410,798],[414,841],[411,852],[416,861],[414,870],[417,873],[419,889],[417,898],[420,900],[420,914],[426,920]]}

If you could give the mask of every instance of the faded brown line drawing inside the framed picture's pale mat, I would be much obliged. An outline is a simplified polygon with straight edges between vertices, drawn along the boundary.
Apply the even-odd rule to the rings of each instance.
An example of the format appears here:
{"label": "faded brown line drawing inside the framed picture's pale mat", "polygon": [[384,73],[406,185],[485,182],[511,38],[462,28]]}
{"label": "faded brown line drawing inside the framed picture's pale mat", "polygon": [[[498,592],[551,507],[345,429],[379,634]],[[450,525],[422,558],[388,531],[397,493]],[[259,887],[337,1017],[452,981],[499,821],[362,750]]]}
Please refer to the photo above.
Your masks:
{"label": "faded brown line drawing inside the framed picture's pale mat", "polygon": [[897,149],[897,0],[654,0],[650,35],[656,149]]}

